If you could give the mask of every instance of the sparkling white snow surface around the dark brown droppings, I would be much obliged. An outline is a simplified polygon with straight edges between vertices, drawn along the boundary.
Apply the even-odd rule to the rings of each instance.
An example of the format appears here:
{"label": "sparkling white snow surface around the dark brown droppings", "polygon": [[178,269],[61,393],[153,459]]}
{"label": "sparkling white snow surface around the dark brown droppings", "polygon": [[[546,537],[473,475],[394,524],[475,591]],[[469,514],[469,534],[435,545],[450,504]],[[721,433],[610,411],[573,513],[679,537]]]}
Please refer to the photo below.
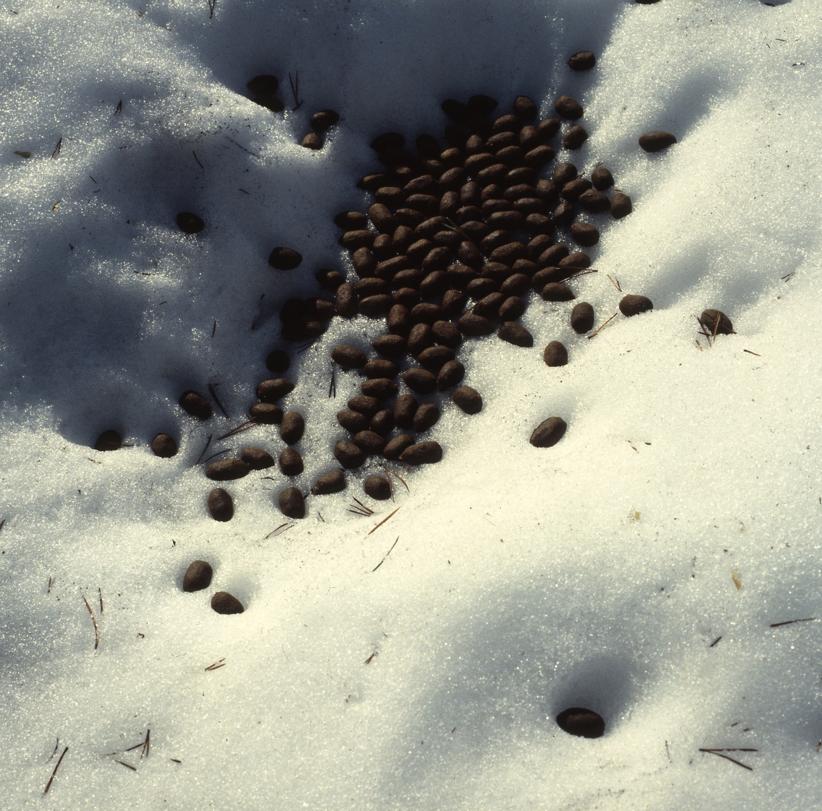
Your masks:
{"label": "sparkling white snow surface around the dark brown droppings", "polygon": [[[205,0],[21,0],[0,19],[3,809],[814,807],[822,622],[770,625],[822,617],[818,0],[217,0],[213,18]],[[598,65],[575,75],[580,49]],[[296,112],[247,98],[270,72],[289,102],[289,71]],[[370,518],[347,506],[371,468],[284,534],[266,538],[270,470],[211,520],[205,436],[268,376],[282,300],[348,261],[331,218],[363,208],[370,140],[441,135],[441,100],[474,93],[501,112],[580,99],[575,162],[605,161],[634,201],[594,266],[653,313],[589,341],[535,300],[532,350],[471,341],[482,414],[446,398],[445,458]],[[313,153],[322,108],[342,118]],[[645,154],[651,129],[679,143]],[[205,231],[182,235],[180,210]],[[272,271],[275,245],[302,268]],[[616,309],[605,273],[576,284],[598,323]],[[706,307],[737,335],[700,351]],[[357,391],[338,373],[326,397],[330,347],[378,332],[337,319],[294,356],[303,492]],[[209,383],[232,421],[179,410]],[[565,438],[531,447],[551,415]],[[134,447],[94,451],[105,428]],[[178,456],[152,455],[159,431]],[[279,453],[255,431],[212,450]],[[183,593],[196,558],[214,581]],[[246,612],[212,612],[216,590]],[[573,705],[603,738],[559,730]],[[148,729],[148,758],[105,757]],[[700,747],[756,749],[731,753],[753,771]]]}

